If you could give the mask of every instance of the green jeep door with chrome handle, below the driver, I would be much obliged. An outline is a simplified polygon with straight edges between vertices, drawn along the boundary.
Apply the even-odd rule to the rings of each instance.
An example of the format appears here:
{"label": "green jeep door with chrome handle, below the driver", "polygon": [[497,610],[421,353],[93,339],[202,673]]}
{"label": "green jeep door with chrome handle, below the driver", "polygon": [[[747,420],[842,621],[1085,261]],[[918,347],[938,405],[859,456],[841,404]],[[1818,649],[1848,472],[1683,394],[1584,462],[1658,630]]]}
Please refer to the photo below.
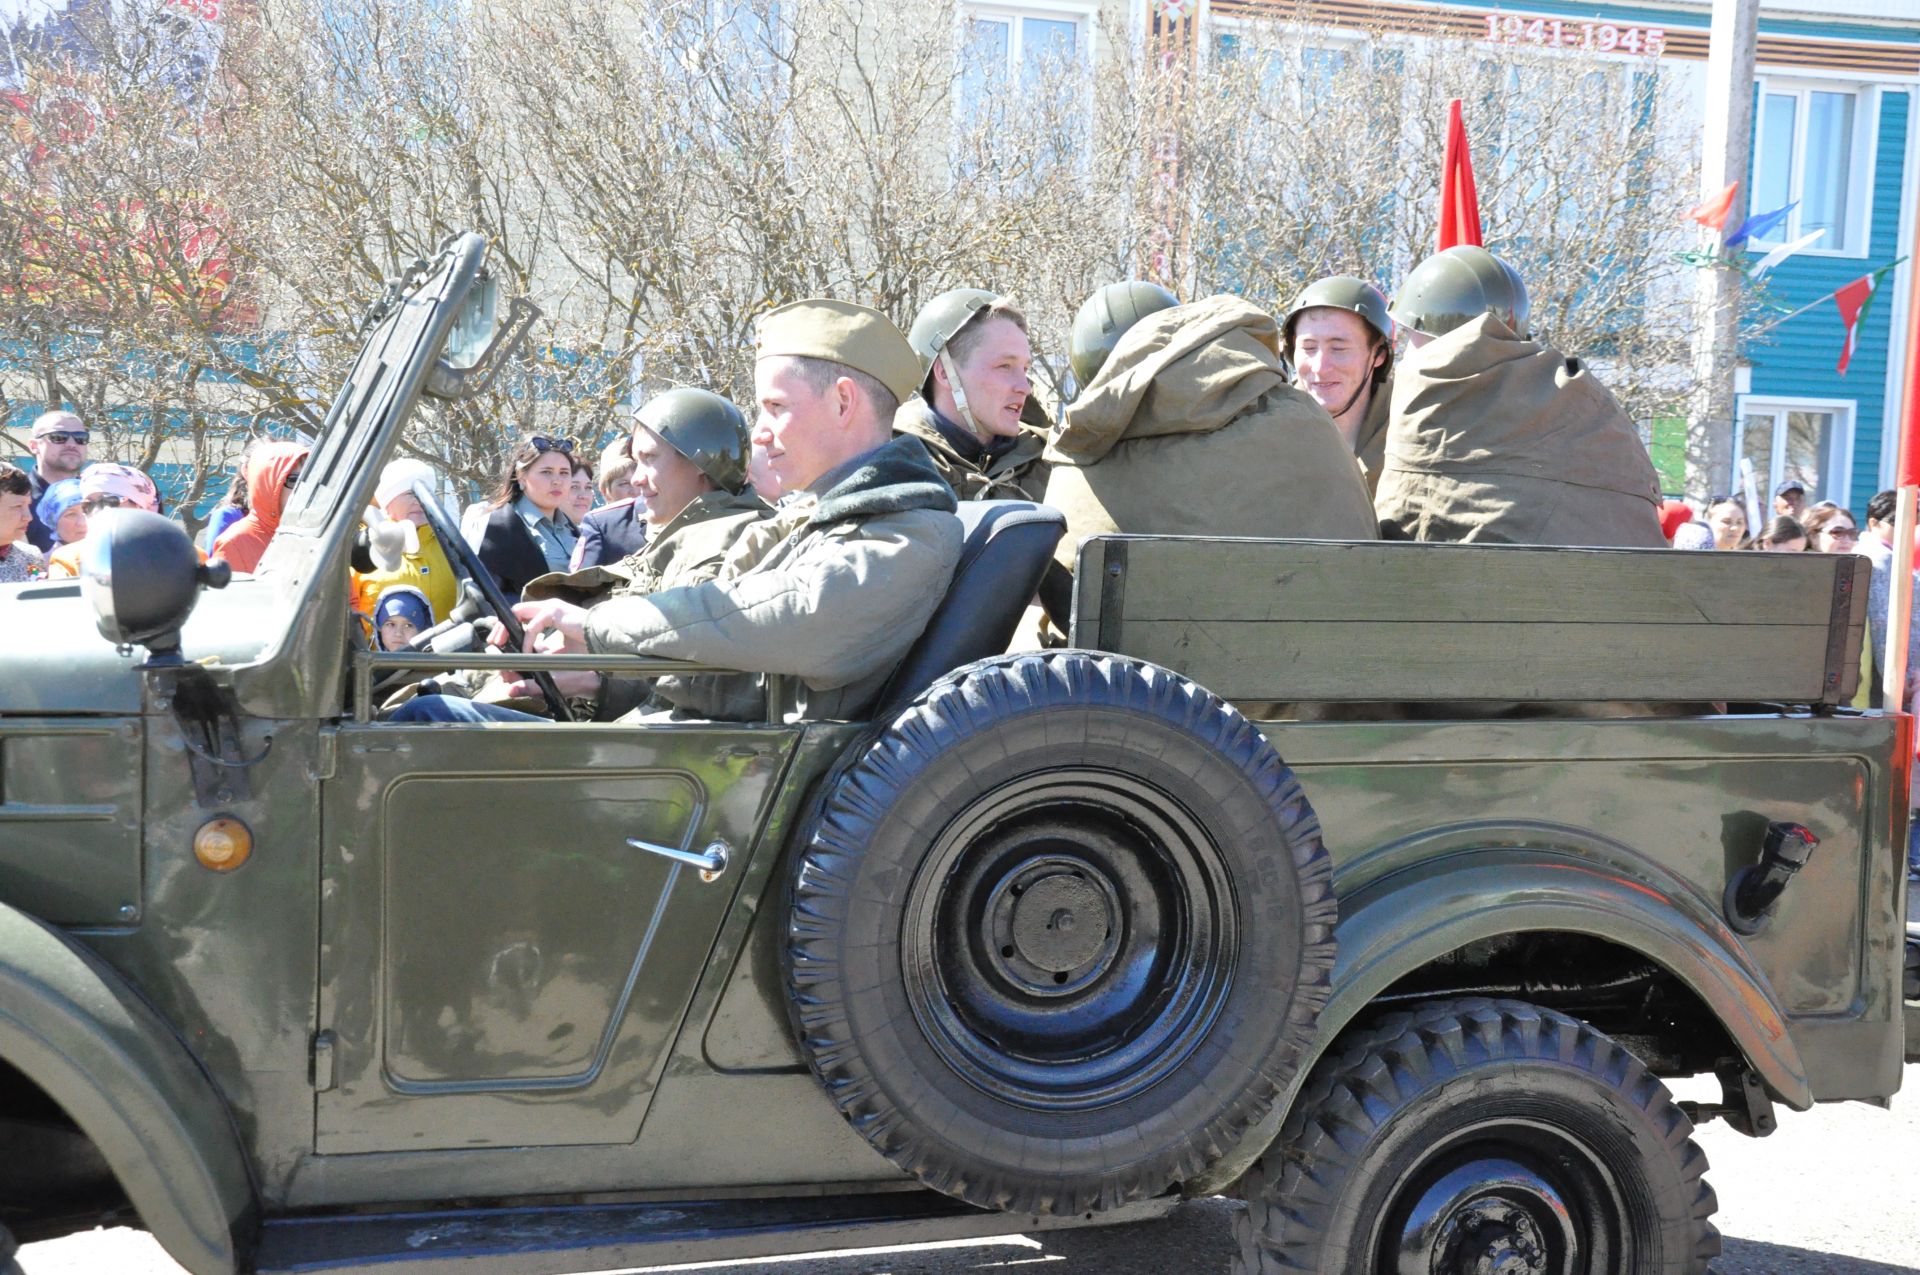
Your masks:
{"label": "green jeep door with chrome handle, below the driver", "polygon": [[632,1143],[797,737],[342,724],[317,1150]]}

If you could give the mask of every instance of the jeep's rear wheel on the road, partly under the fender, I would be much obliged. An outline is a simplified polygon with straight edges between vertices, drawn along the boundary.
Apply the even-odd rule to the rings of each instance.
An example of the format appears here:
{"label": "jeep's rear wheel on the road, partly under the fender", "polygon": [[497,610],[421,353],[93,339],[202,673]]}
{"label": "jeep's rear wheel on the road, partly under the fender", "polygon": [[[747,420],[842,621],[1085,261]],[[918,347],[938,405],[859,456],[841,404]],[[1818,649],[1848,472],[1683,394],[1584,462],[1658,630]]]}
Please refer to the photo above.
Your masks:
{"label": "jeep's rear wheel on the road, partly under the fender", "polygon": [[1720,1252],[1693,1123],[1586,1023],[1444,1000],[1336,1050],[1242,1183],[1242,1275],[1693,1275]]}

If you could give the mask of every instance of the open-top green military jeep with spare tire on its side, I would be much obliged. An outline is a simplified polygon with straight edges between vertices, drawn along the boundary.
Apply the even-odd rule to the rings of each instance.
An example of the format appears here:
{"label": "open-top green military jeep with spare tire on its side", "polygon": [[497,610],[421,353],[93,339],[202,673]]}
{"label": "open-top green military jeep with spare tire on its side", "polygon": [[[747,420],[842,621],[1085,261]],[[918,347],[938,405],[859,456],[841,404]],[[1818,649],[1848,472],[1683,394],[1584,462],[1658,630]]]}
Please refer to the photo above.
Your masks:
{"label": "open-top green military jeep with spare tire on its side", "polygon": [[119,513],[0,589],[8,1252],[526,1275],[1225,1192],[1244,1271],[1703,1271],[1695,1123],[1899,1085],[1853,557],[1098,538],[1071,647],[1002,655],[1060,522],[983,503],[866,720],[380,720],[712,672],[351,622],[409,413],[503,357],[445,353],[484,255],[374,307],[257,576]]}

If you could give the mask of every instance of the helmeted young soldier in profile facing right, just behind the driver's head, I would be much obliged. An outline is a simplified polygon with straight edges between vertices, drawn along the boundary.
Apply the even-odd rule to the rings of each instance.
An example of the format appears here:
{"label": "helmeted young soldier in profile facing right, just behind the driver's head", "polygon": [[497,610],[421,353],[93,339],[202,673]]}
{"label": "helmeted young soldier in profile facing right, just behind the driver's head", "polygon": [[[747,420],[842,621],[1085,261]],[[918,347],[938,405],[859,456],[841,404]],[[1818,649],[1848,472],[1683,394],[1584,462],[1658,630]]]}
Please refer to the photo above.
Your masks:
{"label": "helmeted young soldier in profile facing right, just behind the driver's head", "polygon": [[993,292],[954,288],[920,307],[906,340],[924,374],[893,430],[927,445],[960,499],[1039,499],[1046,417],[1027,376],[1025,315]]}

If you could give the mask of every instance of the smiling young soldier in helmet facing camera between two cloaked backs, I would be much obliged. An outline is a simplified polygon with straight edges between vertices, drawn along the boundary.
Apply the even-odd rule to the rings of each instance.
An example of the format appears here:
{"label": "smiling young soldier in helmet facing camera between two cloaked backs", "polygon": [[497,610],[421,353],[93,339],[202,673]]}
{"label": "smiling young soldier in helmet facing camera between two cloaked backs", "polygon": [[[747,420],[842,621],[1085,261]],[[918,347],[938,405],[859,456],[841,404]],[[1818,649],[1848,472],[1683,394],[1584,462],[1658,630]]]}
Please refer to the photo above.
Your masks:
{"label": "smiling young soldier in helmet facing camera between two cloaked backs", "polygon": [[1313,280],[1281,321],[1281,353],[1294,365],[1294,386],[1332,417],[1371,495],[1380,482],[1394,384],[1386,294],[1352,275]]}

